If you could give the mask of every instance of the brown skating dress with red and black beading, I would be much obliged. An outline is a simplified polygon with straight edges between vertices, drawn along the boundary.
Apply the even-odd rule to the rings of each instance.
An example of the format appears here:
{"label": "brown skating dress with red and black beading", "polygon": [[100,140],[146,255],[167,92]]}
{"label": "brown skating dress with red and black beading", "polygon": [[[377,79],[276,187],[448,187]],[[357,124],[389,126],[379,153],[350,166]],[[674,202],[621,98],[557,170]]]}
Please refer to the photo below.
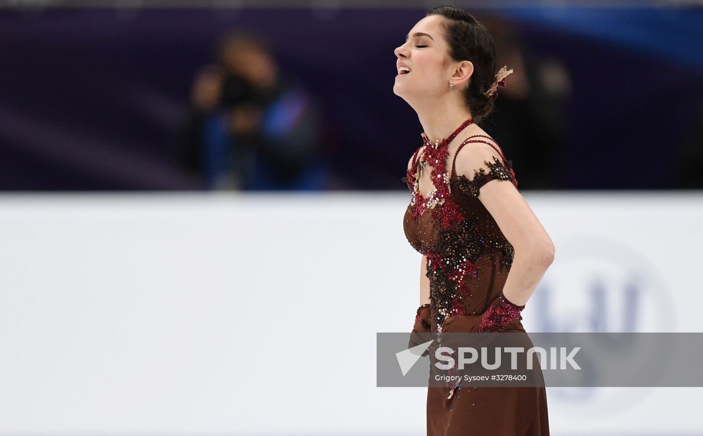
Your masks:
{"label": "brown skating dress with red and black beading", "polygon": [[[427,255],[431,328],[437,333],[447,316],[475,315],[480,321],[503,289],[512,265],[512,245],[479,200],[479,190],[492,180],[508,180],[517,188],[515,172],[499,148],[475,139],[477,136],[483,135],[471,136],[458,146],[451,175],[444,173],[449,158],[446,147],[444,154],[427,150],[431,144],[425,141],[425,146],[415,150],[403,178],[413,193],[404,216],[404,230],[413,248]],[[489,144],[503,162],[498,158],[484,162],[486,168],[475,169],[474,178],[469,180],[463,174],[456,175],[456,155],[471,142]],[[418,186],[418,156],[426,152],[434,152],[432,160],[439,170],[433,168],[434,189],[424,198]],[[439,186],[442,183],[445,186]],[[524,332],[521,319],[510,322],[505,331]],[[449,392],[449,387],[427,388],[427,435],[549,435],[544,387],[460,385],[451,398]]]}

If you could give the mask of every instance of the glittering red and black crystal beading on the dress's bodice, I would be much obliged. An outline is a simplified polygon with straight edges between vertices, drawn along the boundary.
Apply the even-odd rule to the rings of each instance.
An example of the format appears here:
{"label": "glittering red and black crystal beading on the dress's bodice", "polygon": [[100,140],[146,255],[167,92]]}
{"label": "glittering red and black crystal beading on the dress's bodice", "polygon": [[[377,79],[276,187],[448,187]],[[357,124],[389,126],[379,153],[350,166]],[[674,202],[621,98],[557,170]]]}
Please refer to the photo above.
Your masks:
{"label": "glittering red and black crystal beading on the dress's bodice", "polygon": [[[501,261],[496,273],[509,271],[512,266],[515,254],[512,245],[503,236],[494,220],[489,217],[485,208],[483,214],[477,214],[477,212],[482,207],[478,197],[479,189],[484,184],[494,179],[510,180],[517,188],[517,180],[512,171],[512,161],[505,160],[499,150],[498,153],[503,157],[505,164],[497,158],[494,158],[494,162],[484,161],[490,172],[486,173],[484,168],[477,169],[474,178],[469,180],[464,175],[457,177],[454,165],[451,173],[445,172],[446,160],[449,158],[446,141],[430,143],[424,134],[423,141],[423,146],[415,150],[411,165],[406,171],[406,177],[402,180],[411,192],[411,200],[406,211],[408,222],[421,220],[425,231],[430,231],[430,228],[425,226],[431,226],[432,237],[428,234],[422,239],[408,238],[408,242],[416,251],[427,256],[432,327],[436,333],[441,333],[441,324],[447,316],[482,314],[482,312],[477,313],[481,306],[476,304],[476,297],[470,294],[470,285],[474,280],[480,280],[482,268],[489,267],[489,264],[482,267],[479,265],[479,262],[492,258],[484,255],[494,253],[500,255]],[[473,141],[486,142],[480,139],[472,141],[467,139],[465,143]],[[456,155],[465,143],[458,147],[453,164],[456,163]],[[423,152],[422,159],[418,159],[420,152]],[[431,179],[435,186],[428,193],[427,198],[423,198],[419,192],[419,177],[418,172],[415,171],[418,161],[423,160],[432,165]],[[460,205],[461,202],[475,202],[477,206],[464,210]],[[425,214],[430,214],[430,217]],[[418,222],[413,221],[409,228],[417,225]],[[490,277],[487,278],[490,279]],[[486,295],[484,300],[486,298],[490,299],[491,295]],[[470,301],[473,302],[473,306],[469,304]]]}

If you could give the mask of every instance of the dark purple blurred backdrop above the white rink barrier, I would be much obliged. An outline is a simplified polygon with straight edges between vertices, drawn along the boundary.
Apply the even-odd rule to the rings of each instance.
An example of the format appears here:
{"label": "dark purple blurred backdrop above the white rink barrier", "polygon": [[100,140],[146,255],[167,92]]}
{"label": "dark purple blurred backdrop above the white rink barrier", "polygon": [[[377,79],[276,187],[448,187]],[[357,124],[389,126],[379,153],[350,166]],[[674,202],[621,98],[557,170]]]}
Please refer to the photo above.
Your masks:
{"label": "dark purple blurred backdrop above the white rink barrier", "polygon": [[[421,127],[393,49],[424,5],[14,4],[4,191],[404,188]],[[466,5],[516,72],[482,127],[521,187],[703,187],[701,8]]]}

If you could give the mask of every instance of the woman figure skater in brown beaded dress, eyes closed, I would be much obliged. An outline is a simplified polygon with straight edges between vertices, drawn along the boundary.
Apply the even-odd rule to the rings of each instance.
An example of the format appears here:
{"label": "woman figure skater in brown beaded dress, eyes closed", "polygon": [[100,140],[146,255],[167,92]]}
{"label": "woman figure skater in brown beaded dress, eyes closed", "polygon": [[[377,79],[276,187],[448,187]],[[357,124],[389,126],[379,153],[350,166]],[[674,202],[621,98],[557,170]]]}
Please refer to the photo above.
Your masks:
{"label": "woman figure skater in brown beaded dress, eyes closed", "polygon": [[[404,230],[423,255],[413,332],[525,333],[520,312],[554,245],[512,161],[477,125],[512,70],[497,70],[489,32],[452,6],[427,13],[394,53],[394,94],[424,130],[403,178],[412,193]],[[427,435],[548,434],[544,387],[427,389]]]}

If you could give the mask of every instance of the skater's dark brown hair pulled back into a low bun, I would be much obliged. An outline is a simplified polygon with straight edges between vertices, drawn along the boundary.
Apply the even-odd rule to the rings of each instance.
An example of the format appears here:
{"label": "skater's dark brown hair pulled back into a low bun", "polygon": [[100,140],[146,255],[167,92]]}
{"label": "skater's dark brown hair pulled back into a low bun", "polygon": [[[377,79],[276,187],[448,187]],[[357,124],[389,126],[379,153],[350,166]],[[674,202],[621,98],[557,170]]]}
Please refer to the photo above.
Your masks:
{"label": "skater's dark brown hair pulled back into a low bun", "polygon": [[470,60],[474,72],[464,91],[465,103],[471,110],[474,122],[479,122],[493,110],[493,101],[484,96],[496,78],[496,48],[493,38],[484,25],[470,13],[453,6],[437,6],[427,15],[441,15],[445,39],[449,44],[449,57],[453,60]]}

